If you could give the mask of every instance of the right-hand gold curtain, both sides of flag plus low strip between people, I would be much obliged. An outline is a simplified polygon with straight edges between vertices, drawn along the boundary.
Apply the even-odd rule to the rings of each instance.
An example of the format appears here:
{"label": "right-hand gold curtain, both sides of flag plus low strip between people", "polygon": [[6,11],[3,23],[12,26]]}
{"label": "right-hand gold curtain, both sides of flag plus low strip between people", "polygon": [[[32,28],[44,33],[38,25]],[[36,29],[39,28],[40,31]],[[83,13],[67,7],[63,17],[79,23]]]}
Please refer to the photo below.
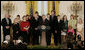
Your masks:
{"label": "right-hand gold curtain, both sides of flag plus low strip between people", "polygon": [[[48,13],[51,14],[51,11],[53,10],[53,1],[48,1]],[[55,1],[55,15],[59,14],[59,1]],[[51,35],[51,44],[54,44],[54,38],[53,34]]]}

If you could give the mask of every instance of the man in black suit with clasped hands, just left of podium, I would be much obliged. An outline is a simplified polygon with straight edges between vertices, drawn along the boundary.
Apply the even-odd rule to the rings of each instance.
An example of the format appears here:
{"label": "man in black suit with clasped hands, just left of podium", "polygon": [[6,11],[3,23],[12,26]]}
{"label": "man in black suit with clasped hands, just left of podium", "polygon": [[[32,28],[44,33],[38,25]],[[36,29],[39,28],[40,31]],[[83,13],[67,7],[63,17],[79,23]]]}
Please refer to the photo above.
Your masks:
{"label": "man in black suit with clasped hands, just left of podium", "polygon": [[38,26],[41,25],[40,20],[42,20],[42,17],[38,15],[38,12],[35,12],[35,15],[31,19],[33,45],[39,44],[40,31],[38,30]]}

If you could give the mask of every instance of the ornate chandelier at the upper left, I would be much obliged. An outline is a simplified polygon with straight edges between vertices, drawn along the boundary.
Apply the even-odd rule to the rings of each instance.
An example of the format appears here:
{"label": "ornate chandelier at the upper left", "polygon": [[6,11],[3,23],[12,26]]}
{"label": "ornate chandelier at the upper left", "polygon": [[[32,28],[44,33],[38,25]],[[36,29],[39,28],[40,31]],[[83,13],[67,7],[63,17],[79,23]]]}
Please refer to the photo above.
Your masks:
{"label": "ornate chandelier at the upper left", "polygon": [[5,10],[8,14],[14,10],[15,6],[11,1],[8,1],[8,3],[5,3],[3,5],[3,10]]}

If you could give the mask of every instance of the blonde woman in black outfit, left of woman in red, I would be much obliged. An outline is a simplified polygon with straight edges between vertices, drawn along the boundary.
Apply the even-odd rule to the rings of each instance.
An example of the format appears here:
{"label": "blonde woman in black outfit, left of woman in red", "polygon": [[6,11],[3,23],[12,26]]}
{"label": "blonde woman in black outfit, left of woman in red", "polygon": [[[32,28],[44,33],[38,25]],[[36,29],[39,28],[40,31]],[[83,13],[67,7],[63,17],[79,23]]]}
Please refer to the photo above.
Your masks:
{"label": "blonde woman in black outfit, left of woman in red", "polygon": [[13,27],[13,41],[14,41],[14,44],[16,45],[17,44],[16,41],[18,40],[20,36],[20,27],[19,27],[17,18],[14,19],[14,23],[12,27]]}

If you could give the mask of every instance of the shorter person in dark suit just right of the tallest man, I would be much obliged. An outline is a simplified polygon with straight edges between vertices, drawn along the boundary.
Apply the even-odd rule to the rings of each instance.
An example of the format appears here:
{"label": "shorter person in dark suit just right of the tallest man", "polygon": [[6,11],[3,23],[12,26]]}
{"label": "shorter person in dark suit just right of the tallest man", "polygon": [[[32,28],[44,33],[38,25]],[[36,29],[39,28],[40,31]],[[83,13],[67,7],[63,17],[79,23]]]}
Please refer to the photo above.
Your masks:
{"label": "shorter person in dark suit just right of the tallest man", "polygon": [[60,15],[56,17],[57,19],[54,21],[54,43],[57,45],[58,43],[61,44],[61,32],[63,30],[62,25],[63,21],[60,19]]}

